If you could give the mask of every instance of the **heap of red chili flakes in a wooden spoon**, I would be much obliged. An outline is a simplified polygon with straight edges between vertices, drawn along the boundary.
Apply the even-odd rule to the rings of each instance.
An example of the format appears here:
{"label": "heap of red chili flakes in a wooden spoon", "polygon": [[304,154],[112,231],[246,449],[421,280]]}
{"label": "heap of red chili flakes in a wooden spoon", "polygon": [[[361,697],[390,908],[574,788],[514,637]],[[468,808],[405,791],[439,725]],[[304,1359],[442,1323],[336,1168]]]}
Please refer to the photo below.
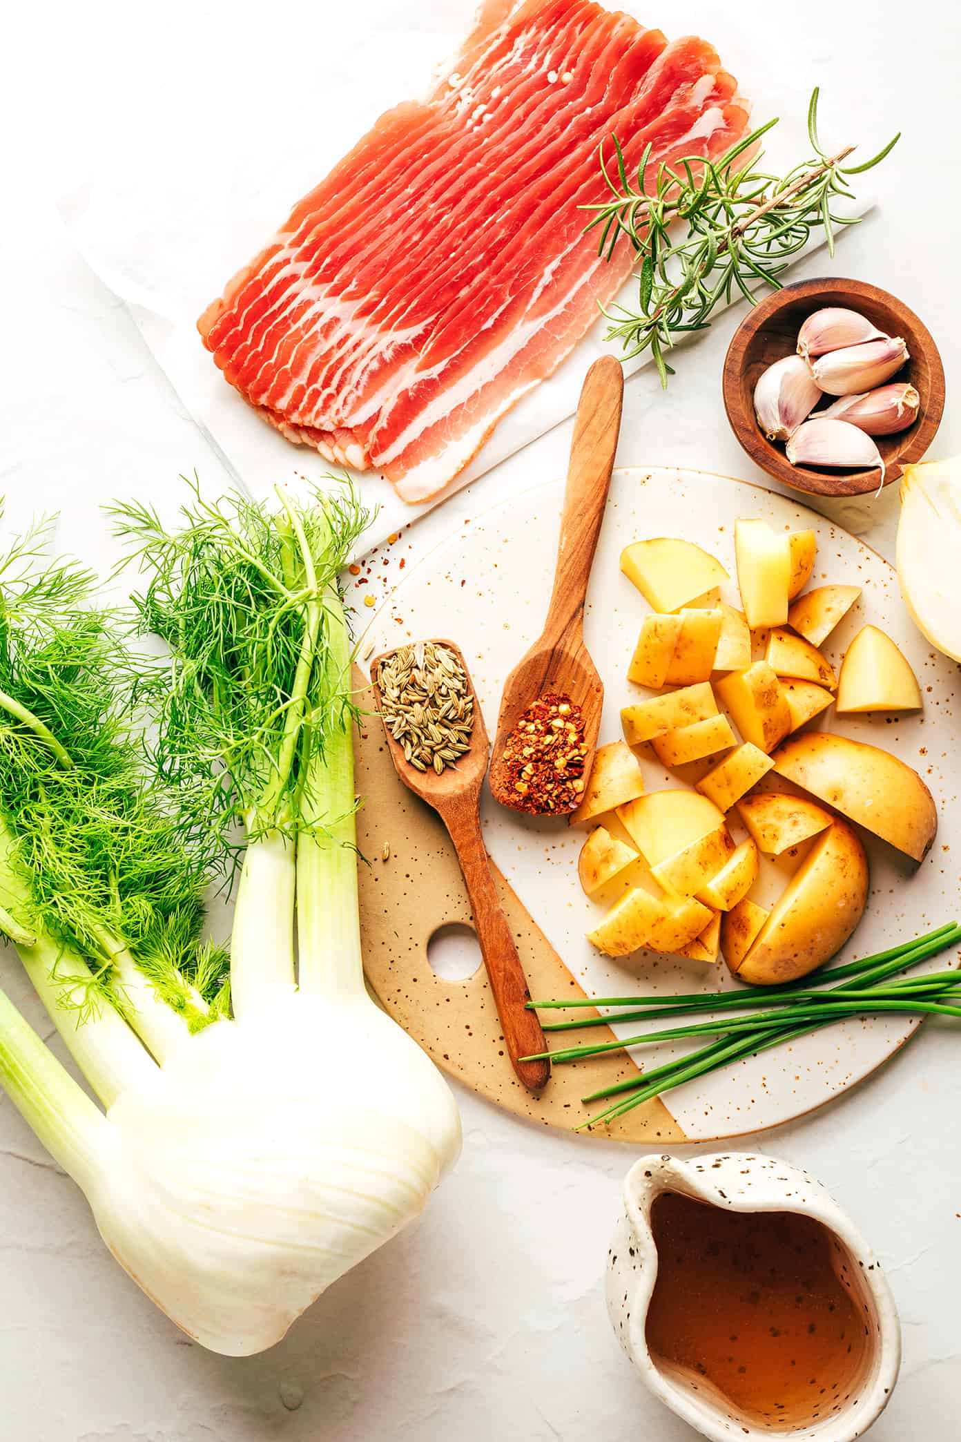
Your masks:
{"label": "heap of red chili flakes in a wooden spoon", "polygon": [[584,792],[584,712],[555,691],[527,707],[500,756],[503,800],[514,810],[563,815]]}

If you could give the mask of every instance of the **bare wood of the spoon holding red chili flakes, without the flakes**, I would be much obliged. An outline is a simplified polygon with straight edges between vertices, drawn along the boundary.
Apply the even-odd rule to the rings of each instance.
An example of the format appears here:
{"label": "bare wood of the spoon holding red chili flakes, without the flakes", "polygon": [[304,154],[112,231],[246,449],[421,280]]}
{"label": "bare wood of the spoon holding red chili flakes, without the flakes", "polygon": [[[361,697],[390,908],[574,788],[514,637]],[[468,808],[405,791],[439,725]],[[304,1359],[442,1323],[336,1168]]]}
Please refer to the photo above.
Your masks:
{"label": "bare wood of the spoon holding red chili flakes, without the flakes", "polygon": [[[527,707],[547,691],[569,696],[584,712],[584,740],[588,747],[584,758],[585,784],[594,766],[604,684],[584,645],[584,601],[611,486],[622,398],[621,363],[614,356],[602,356],[588,371],[578,402],[558,565],[545,629],[504,682],[490,769],[490,789],[501,806],[519,809],[513,787],[504,776],[504,746]],[[569,809],[573,810],[575,806],[576,802]],[[547,815],[556,815],[556,810]]]}

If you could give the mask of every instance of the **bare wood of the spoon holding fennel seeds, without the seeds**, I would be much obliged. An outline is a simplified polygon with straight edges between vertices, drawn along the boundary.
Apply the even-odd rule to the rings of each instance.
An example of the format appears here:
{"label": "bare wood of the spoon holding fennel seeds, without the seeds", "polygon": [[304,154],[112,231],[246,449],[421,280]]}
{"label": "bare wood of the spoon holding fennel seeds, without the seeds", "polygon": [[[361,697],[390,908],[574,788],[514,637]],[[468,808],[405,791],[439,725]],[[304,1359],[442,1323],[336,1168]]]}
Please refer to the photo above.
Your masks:
{"label": "bare wood of the spoon holding fennel seeds, without the seeds", "polygon": [[[526,1009],[530,991],[507,917],[497,897],[480,825],[480,793],[490,754],[487,728],[460,647],[451,640],[435,640],[434,645],[447,646],[448,650],[454,652],[464,668],[467,686],[474,696],[474,728],[470,750],[454,766],[445,766],[439,776],[434,770],[418,771],[416,767],[411,766],[403,756],[403,747],[393,740],[385,725],[388,750],[403,784],[434,808],[450,832],[464,872],[474,913],[474,930],[487,968],[490,989],[494,994],[507,1054],[519,1080],[532,1092],[537,1092],[550,1076],[550,1064],[547,1061],[520,1061],[519,1058],[546,1051],[547,1043],[536,1014]],[[380,666],[390,655],[393,652],[383,652],[370,663],[370,684],[379,711],[383,711],[383,695],[379,686]]]}

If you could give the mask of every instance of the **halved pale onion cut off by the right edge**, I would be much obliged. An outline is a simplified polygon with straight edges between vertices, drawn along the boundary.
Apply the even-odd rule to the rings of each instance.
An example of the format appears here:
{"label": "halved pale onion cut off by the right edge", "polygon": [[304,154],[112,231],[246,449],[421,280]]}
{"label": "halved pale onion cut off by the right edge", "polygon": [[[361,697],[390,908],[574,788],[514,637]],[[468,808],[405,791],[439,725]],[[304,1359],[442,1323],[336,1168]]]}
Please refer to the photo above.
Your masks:
{"label": "halved pale onion cut off by the right edge", "polygon": [[905,466],[898,580],[911,617],[932,646],[961,660],[961,457]]}

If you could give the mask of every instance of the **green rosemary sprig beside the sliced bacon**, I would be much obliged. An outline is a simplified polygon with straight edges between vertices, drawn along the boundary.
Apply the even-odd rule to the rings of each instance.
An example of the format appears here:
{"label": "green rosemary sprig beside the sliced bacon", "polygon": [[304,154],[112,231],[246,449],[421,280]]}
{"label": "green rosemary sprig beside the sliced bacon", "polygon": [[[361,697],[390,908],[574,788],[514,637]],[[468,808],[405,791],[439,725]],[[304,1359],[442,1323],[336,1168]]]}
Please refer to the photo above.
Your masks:
{"label": "green rosemary sprig beside the sliced bacon", "polygon": [[[833,255],[834,228],[857,224],[854,216],[837,215],[834,202],[853,199],[847,177],[879,164],[900,133],[870,160],[843,166],[854,146],[827,154],[818,140],[817,105],[814,89],[807,117],[814,154],[785,176],[756,167],[764,154],[759,141],[777,120],[745,136],[720,160],[686,156],[674,164],[661,163],[654,176],[648,174],[648,144],[635,182],[617,136],[615,176],[601,147],[601,173],[612,198],[584,206],[596,212],[586,229],[601,228],[599,255],[609,260],[625,236],[640,258],[637,309],[604,310],[609,322],[605,339],[621,345],[624,360],[650,350],[664,388],[674,373],[667,352],[683,335],[705,330],[722,300],[729,303],[739,291],[756,304],[758,281],[779,290],[781,273],[813,231],[824,231]],[[673,239],[677,221],[687,229],[683,238]]]}

